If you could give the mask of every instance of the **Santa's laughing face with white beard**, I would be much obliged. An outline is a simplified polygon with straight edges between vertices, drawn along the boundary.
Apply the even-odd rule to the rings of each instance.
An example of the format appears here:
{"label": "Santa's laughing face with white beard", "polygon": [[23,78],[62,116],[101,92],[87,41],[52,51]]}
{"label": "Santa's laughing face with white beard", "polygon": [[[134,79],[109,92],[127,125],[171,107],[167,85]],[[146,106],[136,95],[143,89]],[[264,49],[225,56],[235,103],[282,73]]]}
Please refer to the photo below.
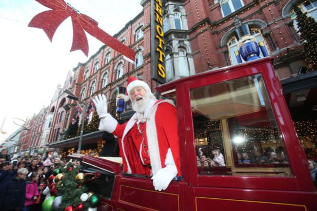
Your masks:
{"label": "Santa's laughing face with white beard", "polygon": [[146,93],[142,87],[134,87],[130,91],[133,110],[138,113],[144,113],[151,97]]}

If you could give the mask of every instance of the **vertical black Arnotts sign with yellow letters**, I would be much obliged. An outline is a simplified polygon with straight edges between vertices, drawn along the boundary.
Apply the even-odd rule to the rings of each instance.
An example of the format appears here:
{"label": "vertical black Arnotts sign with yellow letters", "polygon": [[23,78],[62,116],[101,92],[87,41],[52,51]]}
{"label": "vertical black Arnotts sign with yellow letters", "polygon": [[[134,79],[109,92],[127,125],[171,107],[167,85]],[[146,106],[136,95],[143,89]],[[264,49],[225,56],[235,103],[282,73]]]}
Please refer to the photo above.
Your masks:
{"label": "vertical black Arnotts sign with yellow letters", "polygon": [[151,78],[166,82],[161,0],[151,0]]}

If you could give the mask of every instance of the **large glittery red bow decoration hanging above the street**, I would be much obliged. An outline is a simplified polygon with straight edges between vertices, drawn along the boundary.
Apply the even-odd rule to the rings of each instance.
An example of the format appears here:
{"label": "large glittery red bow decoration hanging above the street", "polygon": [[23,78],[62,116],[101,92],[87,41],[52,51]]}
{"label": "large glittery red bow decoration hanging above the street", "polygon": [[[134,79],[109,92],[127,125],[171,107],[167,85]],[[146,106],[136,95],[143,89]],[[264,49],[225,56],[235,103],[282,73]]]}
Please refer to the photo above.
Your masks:
{"label": "large glittery red bow decoration hanging above the street", "polygon": [[71,52],[81,50],[86,57],[88,57],[89,47],[88,40],[84,32],[85,30],[88,34],[99,39],[101,42],[118,51],[123,56],[130,58],[132,61],[135,60],[135,52],[131,48],[102,31],[98,27],[98,22],[96,20],[79,13],[78,10],[73,8],[70,4],[65,3],[65,1],[36,1],[52,10],[44,11],[36,15],[28,26],[43,29],[51,41],[59,25],[70,16],[72,17],[73,23],[73,43],[70,50]]}

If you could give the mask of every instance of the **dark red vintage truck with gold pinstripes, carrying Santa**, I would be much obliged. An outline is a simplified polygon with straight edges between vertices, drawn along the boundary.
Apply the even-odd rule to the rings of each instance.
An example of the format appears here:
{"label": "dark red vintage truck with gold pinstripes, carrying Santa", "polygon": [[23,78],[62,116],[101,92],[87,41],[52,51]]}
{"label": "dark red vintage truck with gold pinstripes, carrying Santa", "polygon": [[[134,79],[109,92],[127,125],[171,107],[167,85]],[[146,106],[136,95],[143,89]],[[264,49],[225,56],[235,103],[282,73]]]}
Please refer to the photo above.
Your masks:
{"label": "dark red vintage truck with gold pinstripes, carrying Santa", "polygon": [[[101,196],[98,211],[316,210],[317,192],[273,58],[156,89],[176,101],[182,177],[158,192],[146,175],[123,172],[120,158],[72,155],[83,172],[101,172],[87,183]],[[201,153],[211,165],[198,166]],[[220,154],[221,165],[214,162]]]}

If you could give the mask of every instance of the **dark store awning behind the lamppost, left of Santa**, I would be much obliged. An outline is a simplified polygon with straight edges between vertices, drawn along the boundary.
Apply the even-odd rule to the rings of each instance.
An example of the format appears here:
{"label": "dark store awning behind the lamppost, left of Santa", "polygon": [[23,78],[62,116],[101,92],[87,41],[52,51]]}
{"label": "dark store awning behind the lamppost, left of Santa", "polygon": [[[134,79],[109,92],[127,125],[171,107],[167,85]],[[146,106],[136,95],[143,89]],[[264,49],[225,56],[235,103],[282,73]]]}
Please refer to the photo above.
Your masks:
{"label": "dark store awning behind the lamppost, left of Santa", "polygon": [[[102,141],[103,131],[96,131],[90,134],[84,134],[82,136],[81,145],[87,145],[92,143],[98,143]],[[79,144],[79,137],[69,138],[62,141],[56,141],[49,144],[50,148],[73,148]]]}

